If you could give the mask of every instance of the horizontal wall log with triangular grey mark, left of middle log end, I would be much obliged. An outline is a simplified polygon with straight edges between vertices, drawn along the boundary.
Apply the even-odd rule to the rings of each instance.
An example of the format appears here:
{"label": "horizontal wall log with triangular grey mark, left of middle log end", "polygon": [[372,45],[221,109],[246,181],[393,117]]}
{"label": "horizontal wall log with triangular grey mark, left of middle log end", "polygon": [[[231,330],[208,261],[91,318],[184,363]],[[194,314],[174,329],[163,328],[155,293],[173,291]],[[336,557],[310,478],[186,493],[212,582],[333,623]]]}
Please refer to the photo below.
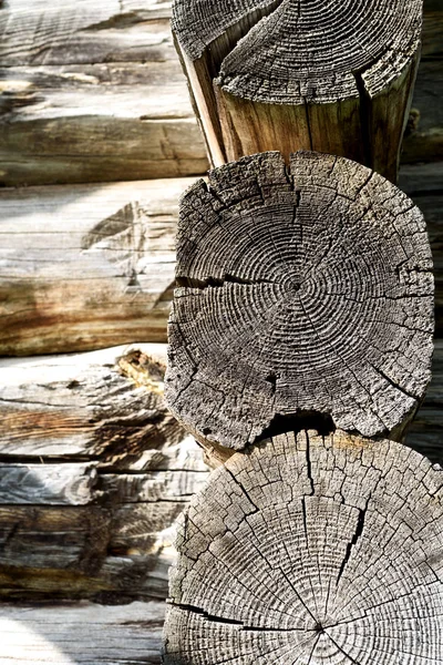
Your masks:
{"label": "horizontal wall log with triangular grey mark, left of middle log end", "polygon": [[190,178],[0,192],[1,355],[165,341]]}

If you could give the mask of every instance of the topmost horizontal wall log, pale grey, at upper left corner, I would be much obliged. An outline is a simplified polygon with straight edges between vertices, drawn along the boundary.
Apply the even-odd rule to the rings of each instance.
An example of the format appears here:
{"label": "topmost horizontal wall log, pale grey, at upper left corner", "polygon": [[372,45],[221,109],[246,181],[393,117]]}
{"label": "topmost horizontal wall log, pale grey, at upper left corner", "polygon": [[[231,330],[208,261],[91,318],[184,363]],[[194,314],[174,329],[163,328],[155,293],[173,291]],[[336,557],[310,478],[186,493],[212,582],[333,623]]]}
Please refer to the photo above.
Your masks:
{"label": "topmost horizontal wall log, pale grey, at upper left corner", "polygon": [[[158,18],[157,7],[152,0],[43,0],[32,6],[12,0],[0,10],[0,62],[63,65],[164,58],[172,45],[164,40],[167,18]],[[165,9],[159,16],[169,13]]]}

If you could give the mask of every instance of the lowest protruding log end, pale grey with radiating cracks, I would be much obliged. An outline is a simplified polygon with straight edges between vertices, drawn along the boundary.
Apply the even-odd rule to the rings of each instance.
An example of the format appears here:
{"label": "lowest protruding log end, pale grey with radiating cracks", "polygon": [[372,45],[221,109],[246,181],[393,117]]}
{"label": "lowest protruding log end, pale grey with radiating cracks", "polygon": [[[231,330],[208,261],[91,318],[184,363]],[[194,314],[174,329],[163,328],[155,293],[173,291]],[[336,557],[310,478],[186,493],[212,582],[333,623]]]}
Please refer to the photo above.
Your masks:
{"label": "lowest protruding log end, pale grey with radiating cracks", "polygon": [[392,441],[284,434],[181,521],[167,665],[443,658],[443,471]]}

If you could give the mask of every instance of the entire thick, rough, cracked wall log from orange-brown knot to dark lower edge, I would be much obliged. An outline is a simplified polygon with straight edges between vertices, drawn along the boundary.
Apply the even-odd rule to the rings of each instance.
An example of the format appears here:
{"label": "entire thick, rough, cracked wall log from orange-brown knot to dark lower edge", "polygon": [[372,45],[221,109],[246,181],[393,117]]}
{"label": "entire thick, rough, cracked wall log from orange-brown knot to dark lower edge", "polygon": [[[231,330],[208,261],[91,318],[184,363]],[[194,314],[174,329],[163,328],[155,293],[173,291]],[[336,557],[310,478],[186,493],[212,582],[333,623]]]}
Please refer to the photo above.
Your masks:
{"label": "entire thick, rough, cracked wall log from orange-brown knot to dark lower edge", "polygon": [[0,360],[0,597],[164,598],[207,475],[163,400],[166,345]]}

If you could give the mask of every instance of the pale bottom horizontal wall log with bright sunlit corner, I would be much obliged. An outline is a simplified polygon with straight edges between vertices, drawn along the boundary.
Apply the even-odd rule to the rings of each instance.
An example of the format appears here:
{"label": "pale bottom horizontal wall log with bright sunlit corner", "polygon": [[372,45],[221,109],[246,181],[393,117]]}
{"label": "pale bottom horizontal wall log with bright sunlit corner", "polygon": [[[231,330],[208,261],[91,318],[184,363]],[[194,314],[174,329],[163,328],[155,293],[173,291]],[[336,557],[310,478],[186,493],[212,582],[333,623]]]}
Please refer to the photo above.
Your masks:
{"label": "pale bottom horizontal wall log with bright sunlit corner", "polygon": [[158,665],[165,603],[0,605],[0,665]]}

